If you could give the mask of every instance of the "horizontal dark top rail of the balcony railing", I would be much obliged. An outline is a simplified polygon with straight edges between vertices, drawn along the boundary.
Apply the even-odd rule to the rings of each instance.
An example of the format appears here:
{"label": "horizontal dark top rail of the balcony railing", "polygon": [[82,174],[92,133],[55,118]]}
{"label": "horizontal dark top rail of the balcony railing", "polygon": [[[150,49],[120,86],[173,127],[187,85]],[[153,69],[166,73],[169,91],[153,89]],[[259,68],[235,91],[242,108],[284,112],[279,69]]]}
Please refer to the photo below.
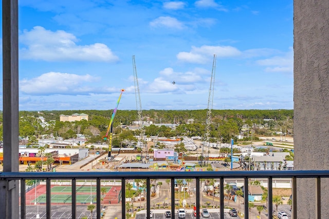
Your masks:
{"label": "horizontal dark top rail of the balcony railing", "polygon": [[0,179],[120,179],[120,178],[316,178],[329,177],[329,170],[294,171],[140,171],[140,172],[1,172]]}

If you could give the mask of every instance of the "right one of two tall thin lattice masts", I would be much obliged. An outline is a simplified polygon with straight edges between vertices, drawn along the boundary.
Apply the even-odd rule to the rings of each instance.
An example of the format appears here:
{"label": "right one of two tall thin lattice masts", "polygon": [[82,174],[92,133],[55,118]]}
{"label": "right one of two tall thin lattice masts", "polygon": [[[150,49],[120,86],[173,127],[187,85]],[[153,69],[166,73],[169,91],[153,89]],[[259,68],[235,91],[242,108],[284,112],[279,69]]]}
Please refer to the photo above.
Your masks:
{"label": "right one of two tall thin lattice masts", "polygon": [[214,54],[214,59],[212,62],[212,71],[211,71],[211,79],[210,79],[210,87],[209,87],[209,95],[208,95],[208,107],[207,107],[207,119],[206,119],[206,127],[205,127],[205,136],[204,136],[204,142],[202,146],[202,161],[204,161],[204,165],[206,165],[205,161],[205,145],[207,144],[208,147],[208,160],[207,160],[207,166],[209,163],[209,139],[210,139],[210,125],[211,125],[211,110],[212,110],[212,103],[214,99],[214,84],[215,84],[215,72],[216,72],[216,54]]}

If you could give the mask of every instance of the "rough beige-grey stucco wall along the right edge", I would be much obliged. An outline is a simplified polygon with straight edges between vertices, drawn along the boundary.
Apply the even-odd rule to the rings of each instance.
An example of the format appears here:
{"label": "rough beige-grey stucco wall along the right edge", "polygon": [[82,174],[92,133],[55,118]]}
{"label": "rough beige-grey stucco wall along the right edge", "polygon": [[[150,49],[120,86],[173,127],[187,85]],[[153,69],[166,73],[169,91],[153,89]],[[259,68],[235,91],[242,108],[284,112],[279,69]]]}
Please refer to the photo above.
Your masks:
{"label": "rough beige-grey stucco wall along the right edge", "polygon": [[[329,169],[329,1],[294,1],[296,170]],[[329,180],[321,181],[321,218],[329,218]],[[297,180],[297,218],[315,218],[315,180]]]}

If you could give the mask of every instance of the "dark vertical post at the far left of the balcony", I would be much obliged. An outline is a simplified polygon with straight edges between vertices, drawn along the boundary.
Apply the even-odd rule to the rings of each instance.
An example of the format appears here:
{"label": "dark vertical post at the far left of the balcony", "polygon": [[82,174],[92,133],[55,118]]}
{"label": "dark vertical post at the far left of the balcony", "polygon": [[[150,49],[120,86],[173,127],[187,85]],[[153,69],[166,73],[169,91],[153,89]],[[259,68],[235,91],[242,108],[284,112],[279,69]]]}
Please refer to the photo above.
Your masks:
{"label": "dark vertical post at the far left of the balcony", "polygon": [[[4,172],[18,172],[18,0],[2,1]],[[19,218],[19,182],[0,180],[1,218]]]}

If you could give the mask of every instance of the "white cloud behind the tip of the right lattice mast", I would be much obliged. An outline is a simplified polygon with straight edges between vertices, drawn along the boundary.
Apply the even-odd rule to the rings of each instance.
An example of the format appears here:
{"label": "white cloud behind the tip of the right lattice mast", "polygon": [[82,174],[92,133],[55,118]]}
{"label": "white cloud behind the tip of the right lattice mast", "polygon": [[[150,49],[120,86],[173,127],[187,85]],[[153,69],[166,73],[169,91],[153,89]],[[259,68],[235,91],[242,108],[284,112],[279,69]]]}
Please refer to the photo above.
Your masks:
{"label": "white cloud behind the tip of the right lattice mast", "polygon": [[179,52],[177,59],[183,62],[204,64],[216,54],[217,57],[236,57],[241,51],[232,46],[192,46],[190,52]]}

